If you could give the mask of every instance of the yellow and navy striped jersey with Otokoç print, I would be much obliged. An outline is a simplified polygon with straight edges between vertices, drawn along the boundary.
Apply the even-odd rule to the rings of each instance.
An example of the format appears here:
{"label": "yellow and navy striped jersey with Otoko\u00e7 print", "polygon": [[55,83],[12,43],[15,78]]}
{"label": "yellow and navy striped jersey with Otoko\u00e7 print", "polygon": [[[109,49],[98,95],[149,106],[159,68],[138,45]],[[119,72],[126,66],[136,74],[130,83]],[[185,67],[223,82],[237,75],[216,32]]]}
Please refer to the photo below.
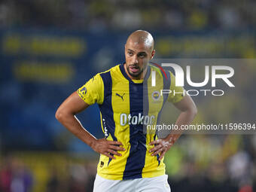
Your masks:
{"label": "yellow and navy striped jersey with Otoko\u00e7 print", "polygon": [[[156,86],[151,86],[152,71]],[[159,81],[160,80],[160,81]],[[100,155],[97,167],[102,178],[123,180],[151,178],[165,174],[165,164],[159,156],[151,156],[149,142],[157,139],[156,130],[147,130],[148,124],[157,124],[166,101],[179,102],[183,94],[163,94],[160,90],[183,92],[175,87],[171,72],[164,74],[159,68],[148,65],[144,80],[132,80],[123,64],[95,75],[78,89],[78,95],[88,105],[97,103],[100,109],[102,131],[105,138],[123,143],[126,151],[118,151],[121,157],[112,160]]]}

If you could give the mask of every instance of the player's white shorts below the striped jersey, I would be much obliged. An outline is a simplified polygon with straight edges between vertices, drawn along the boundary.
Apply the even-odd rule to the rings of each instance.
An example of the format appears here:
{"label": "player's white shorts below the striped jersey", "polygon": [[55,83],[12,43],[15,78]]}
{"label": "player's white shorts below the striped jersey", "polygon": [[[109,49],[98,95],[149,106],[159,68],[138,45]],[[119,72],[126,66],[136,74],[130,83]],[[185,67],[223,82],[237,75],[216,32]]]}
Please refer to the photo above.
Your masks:
{"label": "player's white shorts below the striped jersey", "polygon": [[96,175],[93,192],[170,192],[168,175],[154,178],[110,180]]}

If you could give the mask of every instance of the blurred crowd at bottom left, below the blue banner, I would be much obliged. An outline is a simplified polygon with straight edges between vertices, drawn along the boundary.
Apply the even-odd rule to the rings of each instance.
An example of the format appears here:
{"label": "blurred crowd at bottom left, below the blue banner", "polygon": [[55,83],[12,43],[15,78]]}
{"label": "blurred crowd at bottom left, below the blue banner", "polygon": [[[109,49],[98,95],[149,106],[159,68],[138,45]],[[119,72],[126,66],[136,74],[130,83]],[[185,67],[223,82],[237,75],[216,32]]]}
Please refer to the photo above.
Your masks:
{"label": "blurred crowd at bottom left, below the blue banner", "polygon": [[[38,154],[37,154],[38,155]],[[93,191],[96,162],[75,158],[60,159],[59,154],[11,154],[0,163],[0,191],[2,192],[87,192]],[[49,157],[52,157],[49,160]],[[63,157],[63,156],[62,156]],[[56,160],[56,161],[55,161]],[[82,162],[83,161],[83,162]],[[82,162],[82,163],[81,163]]]}

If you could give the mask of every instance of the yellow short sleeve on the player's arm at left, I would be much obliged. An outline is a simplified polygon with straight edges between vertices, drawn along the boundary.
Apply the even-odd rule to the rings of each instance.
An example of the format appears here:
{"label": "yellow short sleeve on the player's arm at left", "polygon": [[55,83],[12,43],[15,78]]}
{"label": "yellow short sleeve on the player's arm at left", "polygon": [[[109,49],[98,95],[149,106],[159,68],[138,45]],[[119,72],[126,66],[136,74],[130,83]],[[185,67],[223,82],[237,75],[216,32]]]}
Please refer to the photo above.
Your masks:
{"label": "yellow short sleeve on the player's arm at left", "polygon": [[77,90],[78,96],[88,105],[102,104],[104,99],[104,84],[99,74],[95,75],[86,84]]}

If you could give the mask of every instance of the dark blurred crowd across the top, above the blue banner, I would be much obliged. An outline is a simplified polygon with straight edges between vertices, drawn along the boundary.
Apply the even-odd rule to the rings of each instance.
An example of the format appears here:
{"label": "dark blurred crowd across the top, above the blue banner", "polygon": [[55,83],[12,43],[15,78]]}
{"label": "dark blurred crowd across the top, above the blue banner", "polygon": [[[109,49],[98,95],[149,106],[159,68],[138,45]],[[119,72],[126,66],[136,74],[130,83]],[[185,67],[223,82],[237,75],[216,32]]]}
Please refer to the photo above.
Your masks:
{"label": "dark blurred crowd across the top, above the blue banner", "polygon": [[3,0],[0,26],[59,27],[151,31],[251,29],[256,23],[253,0]]}

